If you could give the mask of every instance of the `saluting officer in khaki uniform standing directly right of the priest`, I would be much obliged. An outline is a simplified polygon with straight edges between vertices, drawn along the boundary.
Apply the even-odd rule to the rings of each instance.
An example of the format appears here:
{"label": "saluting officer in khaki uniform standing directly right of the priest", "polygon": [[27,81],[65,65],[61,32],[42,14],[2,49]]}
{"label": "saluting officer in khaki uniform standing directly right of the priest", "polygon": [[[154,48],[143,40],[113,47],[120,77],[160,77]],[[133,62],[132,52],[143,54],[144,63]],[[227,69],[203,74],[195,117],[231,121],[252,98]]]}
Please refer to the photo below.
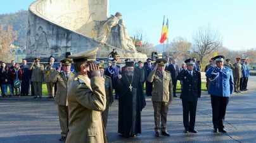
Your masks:
{"label": "saluting officer in khaki uniform standing directly right of the priest", "polygon": [[[172,102],[172,78],[169,71],[165,70],[167,60],[157,59],[156,66],[148,76],[148,82],[154,84],[152,102],[154,107],[155,118],[155,135],[160,137],[160,130],[162,135],[170,136],[167,132],[167,113],[169,104]],[[160,128],[160,118],[162,127]]]}

